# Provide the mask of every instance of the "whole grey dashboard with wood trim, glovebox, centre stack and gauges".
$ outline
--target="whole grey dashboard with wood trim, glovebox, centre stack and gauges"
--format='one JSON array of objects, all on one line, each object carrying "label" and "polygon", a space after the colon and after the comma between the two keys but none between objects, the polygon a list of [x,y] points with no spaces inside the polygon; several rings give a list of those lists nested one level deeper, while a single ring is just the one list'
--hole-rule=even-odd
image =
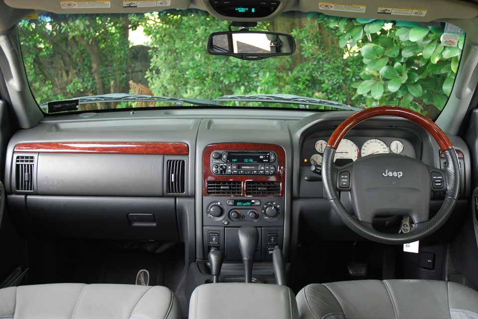
[{"label": "whole grey dashboard with wood trim, glovebox, centre stack and gauges", "polygon": [[[250,110],[184,109],[45,118],[8,144],[7,205],[26,237],[182,241],[187,263],[205,260],[212,247],[238,261],[237,231],[252,225],[261,238],[258,261],[270,260],[275,245],[292,258],[304,234],[359,239],[331,211],[311,171],[352,114],[254,110],[251,119]],[[466,199],[470,152],[461,138],[450,139],[460,150]],[[446,164],[424,129],[395,117],[360,123],[335,163],[381,153]]]}]

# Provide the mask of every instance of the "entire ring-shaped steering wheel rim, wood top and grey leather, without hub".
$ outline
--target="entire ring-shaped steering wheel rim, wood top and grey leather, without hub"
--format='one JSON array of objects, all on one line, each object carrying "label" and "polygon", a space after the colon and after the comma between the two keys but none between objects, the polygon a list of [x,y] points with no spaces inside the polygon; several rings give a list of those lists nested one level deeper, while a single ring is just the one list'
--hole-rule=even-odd
[{"label": "entire ring-shaped steering wheel rim, wood top and grey leather, without hub", "polygon": [[[336,149],[342,138],[360,122],[381,115],[393,115],[411,120],[426,129],[437,141],[445,154],[447,167],[447,195],[438,213],[426,222],[416,223],[409,233],[389,234],[377,231],[370,223],[359,221],[350,215],[340,201],[337,191],[337,169],[334,165]],[[440,228],[450,217],[455,208],[460,191],[460,165],[458,156],[446,134],[431,120],[414,111],[394,106],[380,106],[364,109],[346,119],[332,134],[325,148],[322,160],[322,180],[324,191],[332,210],[339,216],[346,226],[364,237],[382,244],[405,244],[431,235]]]}]

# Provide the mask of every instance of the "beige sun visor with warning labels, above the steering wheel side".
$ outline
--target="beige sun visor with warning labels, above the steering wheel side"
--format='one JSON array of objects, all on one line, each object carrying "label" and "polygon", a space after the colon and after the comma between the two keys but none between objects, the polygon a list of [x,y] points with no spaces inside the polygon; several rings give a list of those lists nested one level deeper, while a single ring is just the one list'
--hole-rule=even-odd
[{"label": "beige sun visor with warning labels, above the steering wheel side", "polygon": [[428,22],[438,19],[469,19],[478,6],[450,0],[299,0],[300,10],[352,18]]}]

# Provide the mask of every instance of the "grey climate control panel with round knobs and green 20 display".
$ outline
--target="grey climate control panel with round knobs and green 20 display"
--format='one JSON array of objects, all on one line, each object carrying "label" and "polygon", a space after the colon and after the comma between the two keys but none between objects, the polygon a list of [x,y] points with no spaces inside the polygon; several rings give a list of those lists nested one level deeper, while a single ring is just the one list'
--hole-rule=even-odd
[{"label": "grey climate control panel with round knobs and green 20 display", "polygon": [[270,197],[209,196],[207,200],[203,208],[205,226],[283,225],[284,199],[281,197],[271,200]]}]

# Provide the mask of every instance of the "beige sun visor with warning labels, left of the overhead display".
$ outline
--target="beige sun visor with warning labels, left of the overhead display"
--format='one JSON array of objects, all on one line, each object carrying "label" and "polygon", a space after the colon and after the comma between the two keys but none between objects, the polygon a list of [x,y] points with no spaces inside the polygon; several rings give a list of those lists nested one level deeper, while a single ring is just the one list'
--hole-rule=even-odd
[{"label": "beige sun visor with warning labels, left of the overhead display", "polygon": [[14,8],[55,13],[122,13],[187,9],[190,0],[4,0]]}]

